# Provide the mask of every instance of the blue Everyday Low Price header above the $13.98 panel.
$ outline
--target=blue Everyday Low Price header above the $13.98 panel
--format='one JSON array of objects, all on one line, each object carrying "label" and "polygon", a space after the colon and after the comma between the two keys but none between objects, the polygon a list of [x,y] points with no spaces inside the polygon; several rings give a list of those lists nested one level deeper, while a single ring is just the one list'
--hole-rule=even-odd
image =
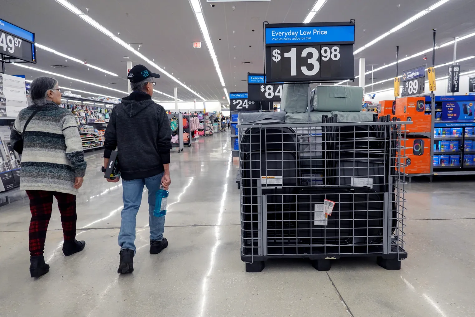
[{"label": "blue Everyday Low Price header above the $13.98 panel", "polygon": [[266,28],[266,44],[354,42],[354,25]]}]

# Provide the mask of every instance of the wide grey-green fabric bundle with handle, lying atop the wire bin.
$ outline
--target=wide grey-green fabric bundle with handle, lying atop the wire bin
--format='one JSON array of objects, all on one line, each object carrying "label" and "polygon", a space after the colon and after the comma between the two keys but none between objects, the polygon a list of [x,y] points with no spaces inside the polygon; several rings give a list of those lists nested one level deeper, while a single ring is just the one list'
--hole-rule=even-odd
[{"label": "wide grey-green fabric bundle with handle, lying atop the wire bin", "polygon": [[361,87],[322,85],[316,86],[312,94],[314,111],[361,111]]}]

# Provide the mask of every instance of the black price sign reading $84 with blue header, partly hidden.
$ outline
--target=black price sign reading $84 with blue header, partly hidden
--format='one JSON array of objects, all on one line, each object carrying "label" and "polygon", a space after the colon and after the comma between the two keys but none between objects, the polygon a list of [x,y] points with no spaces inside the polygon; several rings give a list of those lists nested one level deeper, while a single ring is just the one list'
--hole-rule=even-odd
[{"label": "black price sign reading $84 with blue header, partly hidden", "polygon": [[266,84],[264,74],[248,74],[247,92],[249,100],[280,101],[283,84]]}]

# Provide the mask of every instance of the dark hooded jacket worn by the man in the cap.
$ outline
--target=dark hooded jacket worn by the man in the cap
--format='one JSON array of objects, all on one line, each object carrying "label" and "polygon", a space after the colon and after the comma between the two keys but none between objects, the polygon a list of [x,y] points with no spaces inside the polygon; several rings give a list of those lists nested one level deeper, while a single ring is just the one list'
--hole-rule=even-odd
[{"label": "dark hooded jacket worn by the man in the cap", "polygon": [[152,177],[170,163],[171,128],[167,113],[152,97],[134,91],[112,109],[105,130],[104,157],[117,148],[124,180]]}]

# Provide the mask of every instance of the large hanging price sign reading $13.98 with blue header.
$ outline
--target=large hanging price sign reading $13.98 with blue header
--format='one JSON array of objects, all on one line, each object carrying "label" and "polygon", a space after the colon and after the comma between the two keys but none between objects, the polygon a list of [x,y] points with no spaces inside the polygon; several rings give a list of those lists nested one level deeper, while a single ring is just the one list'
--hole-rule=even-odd
[{"label": "large hanging price sign reading $13.98 with blue header", "polygon": [[354,23],[266,25],[267,83],[354,79]]}]

